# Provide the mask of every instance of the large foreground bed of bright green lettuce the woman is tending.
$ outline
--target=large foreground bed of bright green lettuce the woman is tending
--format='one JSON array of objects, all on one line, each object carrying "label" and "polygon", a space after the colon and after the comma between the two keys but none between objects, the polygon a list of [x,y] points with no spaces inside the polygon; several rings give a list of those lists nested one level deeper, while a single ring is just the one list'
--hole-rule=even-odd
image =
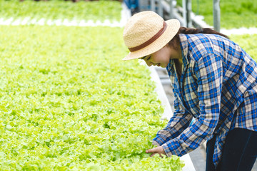
[{"label": "large foreground bed of bright green lettuce the woman is tending", "polygon": [[181,170],[148,157],[166,125],[122,28],[0,27],[1,170]]}]

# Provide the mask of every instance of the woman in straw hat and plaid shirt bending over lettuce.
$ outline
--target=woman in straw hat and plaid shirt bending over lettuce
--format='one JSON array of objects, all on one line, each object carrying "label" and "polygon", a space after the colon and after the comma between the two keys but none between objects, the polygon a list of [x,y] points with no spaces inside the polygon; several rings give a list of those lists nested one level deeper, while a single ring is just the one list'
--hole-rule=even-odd
[{"label": "woman in straw hat and plaid shirt bending over lettuce", "polygon": [[[257,64],[210,28],[183,28],[143,11],[124,27],[129,55],[166,68],[174,114],[158,131],[151,156],[182,156],[207,140],[206,170],[251,170],[257,155]],[[195,118],[191,123],[192,118]],[[190,124],[191,123],[191,124]]]}]

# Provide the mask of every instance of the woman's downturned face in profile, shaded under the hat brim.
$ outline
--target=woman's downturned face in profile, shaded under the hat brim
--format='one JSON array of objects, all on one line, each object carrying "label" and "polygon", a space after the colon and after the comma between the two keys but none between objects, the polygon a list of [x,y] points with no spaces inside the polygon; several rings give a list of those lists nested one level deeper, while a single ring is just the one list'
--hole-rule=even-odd
[{"label": "woman's downturned face in profile, shaded under the hat brim", "polygon": [[147,66],[160,66],[162,68],[166,68],[170,61],[170,58],[179,58],[178,56],[178,51],[169,46],[164,46],[155,53],[144,56],[140,59],[143,59],[143,61],[146,62]]}]

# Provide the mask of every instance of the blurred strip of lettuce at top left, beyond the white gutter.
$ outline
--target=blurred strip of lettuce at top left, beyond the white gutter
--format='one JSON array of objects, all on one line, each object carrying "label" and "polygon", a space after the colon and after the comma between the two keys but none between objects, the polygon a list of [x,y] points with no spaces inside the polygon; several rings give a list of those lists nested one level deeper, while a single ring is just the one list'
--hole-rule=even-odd
[{"label": "blurred strip of lettuce at top left, beyond the white gutter", "polygon": [[1,19],[68,19],[92,21],[120,21],[121,2],[119,1],[17,1],[0,0]]}]

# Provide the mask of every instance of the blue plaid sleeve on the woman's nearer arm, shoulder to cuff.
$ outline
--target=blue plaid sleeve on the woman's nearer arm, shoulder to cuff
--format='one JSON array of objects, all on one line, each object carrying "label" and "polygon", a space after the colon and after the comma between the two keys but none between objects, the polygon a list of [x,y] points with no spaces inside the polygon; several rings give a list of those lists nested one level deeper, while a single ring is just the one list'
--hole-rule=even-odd
[{"label": "blue plaid sleeve on the woman's nearer arm, shoulder to cuff", "polygon": [[202,56],[194,66],[194,74],[198,83],[199,115],[180,135],[163,143],[168,157],[182,156],[196,149],[212,135],[218,124],[223,80],[221,57]]}]

